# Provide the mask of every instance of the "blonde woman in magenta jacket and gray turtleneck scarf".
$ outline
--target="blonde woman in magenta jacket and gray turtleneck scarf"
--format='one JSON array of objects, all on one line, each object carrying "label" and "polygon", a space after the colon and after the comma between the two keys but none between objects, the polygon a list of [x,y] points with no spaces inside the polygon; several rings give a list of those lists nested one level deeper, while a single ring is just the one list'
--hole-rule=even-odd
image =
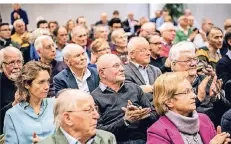
[{"label": "blonde woman in magenta jacket and gray turtleneck scarf", "polygon": [[196,112],[196,95],[186,73],[165,73],[158,77],[154,95],[154,105],[161,117],[148,129],[147,144],[223,144],[230,141],[228,133],[214,137],[216,131],[211,120]]}]

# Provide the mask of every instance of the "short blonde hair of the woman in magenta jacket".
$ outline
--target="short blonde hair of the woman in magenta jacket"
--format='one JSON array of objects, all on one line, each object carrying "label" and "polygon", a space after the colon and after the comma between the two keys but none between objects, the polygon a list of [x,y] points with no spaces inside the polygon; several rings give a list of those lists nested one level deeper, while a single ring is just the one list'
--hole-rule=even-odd
[{"label": "short blonde hair of the woman in magenta jacket", "polygon": [[178,86],[187,78],[186,72],[169,72],[160,75],[154,83],[154,106],[159,115],[164,115],[169,109],[166,102],[174,97]]}]

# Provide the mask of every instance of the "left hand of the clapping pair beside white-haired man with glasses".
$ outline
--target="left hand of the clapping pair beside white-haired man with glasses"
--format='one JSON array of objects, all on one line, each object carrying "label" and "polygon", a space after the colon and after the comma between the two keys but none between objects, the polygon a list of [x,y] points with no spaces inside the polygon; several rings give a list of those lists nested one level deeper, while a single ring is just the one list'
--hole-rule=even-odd
[{"label": "left hand of the clapping pair beside white-haired man with glasses", "polygon": [[211,79],[211,76],[206,76],[203,81],[200,83],[198,86],[198,92],[197,92],[197,97],[199,101],[203,101],[206,96],[206,87],[208,85],[209,80]]}]

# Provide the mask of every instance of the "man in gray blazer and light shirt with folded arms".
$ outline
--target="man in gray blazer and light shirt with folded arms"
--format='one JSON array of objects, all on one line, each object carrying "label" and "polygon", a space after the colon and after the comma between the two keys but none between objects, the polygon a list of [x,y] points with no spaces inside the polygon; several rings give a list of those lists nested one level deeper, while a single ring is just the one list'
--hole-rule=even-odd
[{"label": "man in gray blazer and light shirt with folded arms", "polygon": [[[133,37],[128,43],[129,63],[125,66],[126,82],[139,85],[145,93],[153,92],[153,84],[161,75],[159,68],[149,65],[150,46],[142,37]],[[152,101],[152,95],[149,100]]]}]

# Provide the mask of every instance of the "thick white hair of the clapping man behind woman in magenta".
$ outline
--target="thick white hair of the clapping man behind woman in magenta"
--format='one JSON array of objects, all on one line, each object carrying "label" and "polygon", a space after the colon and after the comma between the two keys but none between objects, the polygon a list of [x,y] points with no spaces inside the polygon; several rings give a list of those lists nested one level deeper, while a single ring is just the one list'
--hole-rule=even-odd
[{"label": "thick white hair of the clapping man behind woman in magenta", "polygon": [[182,41],[173,45],[169,52],[170,61],[178,60],[183,52],[194,52],[196,49],[192,42]]}]

